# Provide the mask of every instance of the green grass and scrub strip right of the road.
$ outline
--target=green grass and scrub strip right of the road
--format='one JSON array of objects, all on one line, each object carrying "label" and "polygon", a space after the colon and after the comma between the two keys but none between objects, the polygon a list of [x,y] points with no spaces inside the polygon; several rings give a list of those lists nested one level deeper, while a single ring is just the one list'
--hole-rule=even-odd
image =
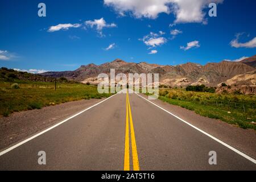
[{"label": "green grass and scrub strip right of the road", "polygon": [[161,89],[159,99],[193,110],[204,117],[220,119],[243,129],[254,129],[256,96],[188,92],[184,89]]}]

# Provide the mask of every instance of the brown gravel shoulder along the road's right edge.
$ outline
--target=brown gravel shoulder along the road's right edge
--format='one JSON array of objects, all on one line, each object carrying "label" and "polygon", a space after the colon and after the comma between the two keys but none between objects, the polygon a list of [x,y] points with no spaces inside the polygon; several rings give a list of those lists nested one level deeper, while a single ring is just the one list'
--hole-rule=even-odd
[{"label": "brown gravel shoulder along the road's right edge", "polygon": [[[140,95],[147,98],[144,94]],[[161,100],[151,100],[151,102],[256,159],[256,132],[253,129],[241,129],[217,119],[203,117],[194,111],[171,105]]]}]

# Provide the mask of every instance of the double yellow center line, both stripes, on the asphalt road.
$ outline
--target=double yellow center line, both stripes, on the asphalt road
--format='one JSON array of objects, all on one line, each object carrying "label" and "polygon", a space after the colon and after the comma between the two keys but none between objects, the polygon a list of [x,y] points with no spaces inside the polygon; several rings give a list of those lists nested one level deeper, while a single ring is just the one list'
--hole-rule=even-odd
[{"label": "double yellow center line, both stripes, on the asphalt road", "polygon": [[129,140],[129,118],[131,130],[131,152],[133,155],[133,170],[139,171],[139,159],[135,140],[135,133],[133,127],[133,117],[131,116],[131,107],[129,101],[128,90],[126,93],[126,130],[125,130],[125,163],[124,170],[130,171],[130,140]]}]

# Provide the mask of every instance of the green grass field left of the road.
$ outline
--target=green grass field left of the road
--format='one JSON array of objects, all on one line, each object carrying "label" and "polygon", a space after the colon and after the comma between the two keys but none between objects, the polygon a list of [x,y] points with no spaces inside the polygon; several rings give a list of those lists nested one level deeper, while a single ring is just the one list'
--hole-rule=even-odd
[{"label": "green grass field left of the road", "polygon": [[[14,88],[17,83],[19,88]],[[44,106],[57,105],[69,101],[100,99],[111,94],[99,94],[97,86],[79,83],[36,82],[15,80],[0,81],[0,115],[8,117],[15,111],[41,109]]]}]

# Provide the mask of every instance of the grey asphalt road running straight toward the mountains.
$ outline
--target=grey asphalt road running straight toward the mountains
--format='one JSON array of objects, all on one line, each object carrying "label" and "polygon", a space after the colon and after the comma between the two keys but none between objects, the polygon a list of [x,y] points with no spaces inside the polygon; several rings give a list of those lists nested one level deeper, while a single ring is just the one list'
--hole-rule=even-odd
[{"label": "grey asphalt road running straight toward the mountains", "polygon": [[[39,151],[46,165],[38,164]],[[209,164],[210,151],[217,165]],[[0,170],[256,170],[224,144],[125,93],[0,155]]]}]

